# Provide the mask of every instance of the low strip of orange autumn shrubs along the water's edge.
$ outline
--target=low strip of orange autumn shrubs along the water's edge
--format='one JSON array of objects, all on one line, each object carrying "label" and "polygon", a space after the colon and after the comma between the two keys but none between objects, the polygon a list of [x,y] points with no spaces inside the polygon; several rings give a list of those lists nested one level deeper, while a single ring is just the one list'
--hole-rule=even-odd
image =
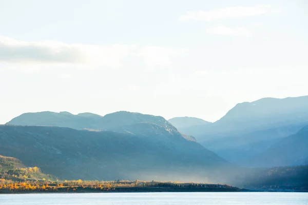
[{"label": "low strip of orange autumn shrubs along the water's edge", "polygon": [[93,193],[93,192],[239,192],[229,185],[171,181],[44,181],[13,182],[0,179],[0,193]]}]

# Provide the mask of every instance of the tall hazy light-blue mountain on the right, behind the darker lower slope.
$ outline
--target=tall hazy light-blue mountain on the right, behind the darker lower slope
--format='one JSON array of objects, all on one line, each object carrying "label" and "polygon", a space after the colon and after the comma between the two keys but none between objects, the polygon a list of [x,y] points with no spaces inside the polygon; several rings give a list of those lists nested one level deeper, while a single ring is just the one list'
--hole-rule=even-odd
[{"label": "tall hazy light-blue mountain on the right, behind the darker lower slope", "polygon": [[223,158],[242,163],[306,125],[308,96],[302,96],[237,104],[213,124],[181,131]]}]

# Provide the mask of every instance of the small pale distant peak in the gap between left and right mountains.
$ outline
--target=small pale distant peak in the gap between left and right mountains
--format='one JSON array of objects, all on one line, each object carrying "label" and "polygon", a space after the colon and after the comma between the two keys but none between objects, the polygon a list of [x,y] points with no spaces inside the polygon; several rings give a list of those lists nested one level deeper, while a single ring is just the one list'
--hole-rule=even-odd
[{"label": "small pale distant peak in the gap between left and right mountains", "polygon": [[211,124],[211,122],[196,117],[174,117],[168,121],[181,132],[187,128]]}]

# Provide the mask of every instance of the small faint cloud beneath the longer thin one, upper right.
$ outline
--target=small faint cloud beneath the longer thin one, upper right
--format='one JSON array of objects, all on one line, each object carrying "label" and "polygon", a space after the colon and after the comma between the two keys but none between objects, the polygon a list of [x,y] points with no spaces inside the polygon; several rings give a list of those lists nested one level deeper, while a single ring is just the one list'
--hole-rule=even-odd
[{"label": "small faint cloud beneath the longer thin one, upper right", "polygon": [[251,35],[251,31],[245,27],[230,28],[223,25],[206,29],[206,32],[217,35],[232,35],[232,36]]}]

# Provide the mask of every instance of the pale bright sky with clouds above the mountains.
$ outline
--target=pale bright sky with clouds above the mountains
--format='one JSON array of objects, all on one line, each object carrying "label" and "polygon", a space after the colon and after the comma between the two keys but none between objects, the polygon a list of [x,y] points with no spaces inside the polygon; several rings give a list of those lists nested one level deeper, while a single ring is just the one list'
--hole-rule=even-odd
[{"label": "pale bright sky with clouds above the mountains", "polygon": [[0,0],[0,124],[26,112],[216,121],[308,95],[305,0]]}]

